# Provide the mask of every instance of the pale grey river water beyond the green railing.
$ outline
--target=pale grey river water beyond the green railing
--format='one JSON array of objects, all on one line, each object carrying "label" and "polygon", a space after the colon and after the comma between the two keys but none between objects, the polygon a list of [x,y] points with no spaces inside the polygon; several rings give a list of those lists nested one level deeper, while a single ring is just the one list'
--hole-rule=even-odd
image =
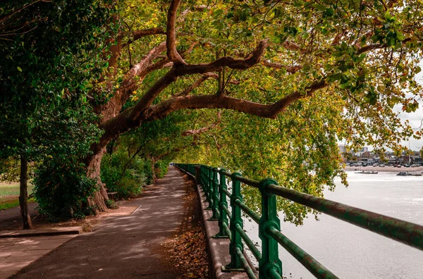
[{"label": "pale grey river water beyond the green railing", "polygon": [[[423,225],[423,177],[348,172],[348,188],[336,182],[326,199]],[[247,234],[260,243],[257,227],[245,220]],[[299,227],[281,223],[281,232],[339,278],[423,278],[423,251],[331,216],[310,216]],[[279,254],[284,276],[314,278],[281,246]]]}]

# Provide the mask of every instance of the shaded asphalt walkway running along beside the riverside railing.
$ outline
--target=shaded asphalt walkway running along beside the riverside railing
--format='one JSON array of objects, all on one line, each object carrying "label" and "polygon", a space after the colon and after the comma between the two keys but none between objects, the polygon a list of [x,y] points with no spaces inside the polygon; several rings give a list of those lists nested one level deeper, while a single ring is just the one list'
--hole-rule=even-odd
[{"label": "shaded asphalt walkway running along beside the riverside railing", "polygon": [[183,221],[184,181],[170,168],[131,202],[140,206],[132,215],[103,219],[11,278],[178,278],[161,244]]}]

